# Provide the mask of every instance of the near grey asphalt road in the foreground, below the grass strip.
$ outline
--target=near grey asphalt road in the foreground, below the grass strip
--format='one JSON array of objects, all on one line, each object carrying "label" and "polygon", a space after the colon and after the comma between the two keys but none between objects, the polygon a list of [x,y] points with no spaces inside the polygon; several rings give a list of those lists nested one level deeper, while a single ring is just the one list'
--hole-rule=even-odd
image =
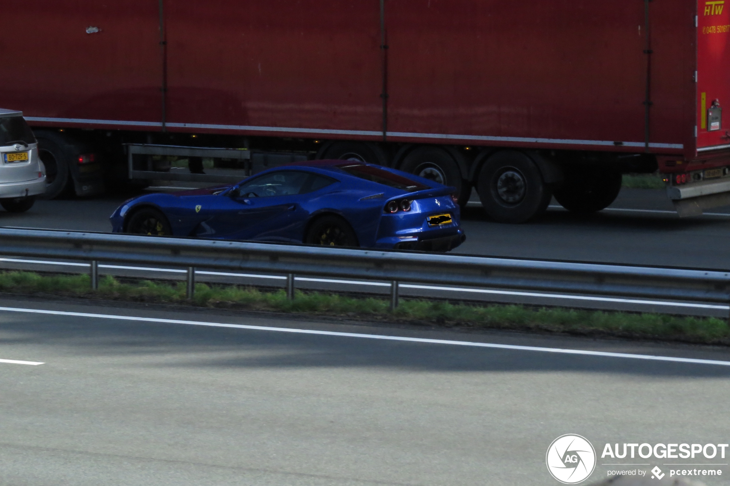
[{"label": "near grey asphalt road in the foreground, below the grass strip", "polygon": [[[599,454],[590,483],[617,467],[603,463],[677,462],[602,460],[605,443],[730,439],[730,366],[520,346],[729,360],[721,349],[150,306],[0,306],[0,360],[44,363],[0,362],[1,485],[557,485],[545,452],[566,433]],[[705,484],[727,484],[728,466],[704,467],[724,473]]]}]

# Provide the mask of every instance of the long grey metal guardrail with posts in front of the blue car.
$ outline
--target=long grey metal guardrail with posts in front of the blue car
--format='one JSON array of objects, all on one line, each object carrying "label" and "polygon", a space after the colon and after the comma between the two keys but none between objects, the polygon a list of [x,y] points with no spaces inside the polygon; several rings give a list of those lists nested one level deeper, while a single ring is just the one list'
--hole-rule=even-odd
[{"label": "long grey metal guardrail with posts in front of the blue car", "polygon": [[390,281],[393,307],[398,282],[730,301],[729,271],[12,228],[0,228],[0,254],[91,261],[93,288],[99,261],[187,267],[188,297],[199,267],[286,274],[289,298],[294,274]]}]

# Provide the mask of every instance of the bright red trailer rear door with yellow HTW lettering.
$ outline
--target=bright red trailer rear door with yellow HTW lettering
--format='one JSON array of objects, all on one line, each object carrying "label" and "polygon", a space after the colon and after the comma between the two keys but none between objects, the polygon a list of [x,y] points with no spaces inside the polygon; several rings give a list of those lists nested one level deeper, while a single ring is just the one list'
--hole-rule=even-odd
[{"label": "bright red trailer rear door with yellow HTW lettering", "polygon": [[697,151],[700,153],[730,147],[728,3],[730,0],[697,3]]}]

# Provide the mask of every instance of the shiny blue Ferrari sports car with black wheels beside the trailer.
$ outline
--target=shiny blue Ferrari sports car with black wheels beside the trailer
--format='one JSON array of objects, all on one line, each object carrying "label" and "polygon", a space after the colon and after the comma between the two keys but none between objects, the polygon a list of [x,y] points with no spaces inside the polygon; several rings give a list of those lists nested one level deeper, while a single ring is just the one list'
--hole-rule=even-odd
[{"label": "shiny blue Ferrari sports car with black wheels beside the trailer", "polygon": [[368,163],[311,161],[139,196],[110,219],[116,233],[448,251],[466,239],[454,190]]}]

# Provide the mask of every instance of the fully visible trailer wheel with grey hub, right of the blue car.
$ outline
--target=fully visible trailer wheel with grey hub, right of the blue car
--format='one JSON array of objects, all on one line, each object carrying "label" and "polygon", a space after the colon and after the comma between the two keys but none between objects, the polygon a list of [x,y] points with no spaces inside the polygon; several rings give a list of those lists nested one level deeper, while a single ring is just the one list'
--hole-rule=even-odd
[{"label": "fully visible trailer wheel with grey hub, right of the blue car", "polygon": [[516,150],[497,152],[485,161],[477,192],[487,214],[499,223],[524,223],[541,215],[552,197],[537,165]]}]

